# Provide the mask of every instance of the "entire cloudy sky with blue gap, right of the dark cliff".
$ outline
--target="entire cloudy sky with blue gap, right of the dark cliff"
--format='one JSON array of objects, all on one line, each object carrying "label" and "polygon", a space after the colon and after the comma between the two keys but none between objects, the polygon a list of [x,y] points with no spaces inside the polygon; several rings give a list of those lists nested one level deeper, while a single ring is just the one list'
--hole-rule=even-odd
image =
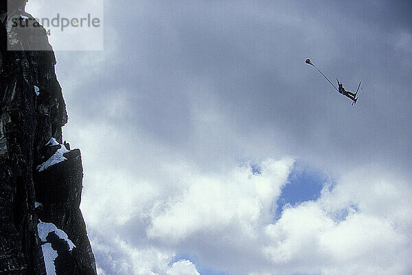
[{"label": "entire cloudy sky with blue gap, right of the dark cliff", "polygon": [[411,10],[105,1],[56,52],[98,273],[411,274]]}]

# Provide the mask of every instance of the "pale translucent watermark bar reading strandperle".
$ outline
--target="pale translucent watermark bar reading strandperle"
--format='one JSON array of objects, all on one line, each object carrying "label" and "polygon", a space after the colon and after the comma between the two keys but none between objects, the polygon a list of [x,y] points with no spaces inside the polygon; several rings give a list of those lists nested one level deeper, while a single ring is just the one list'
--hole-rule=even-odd
[{"label": "pale translucent watermark bar reading strandperle", "polygon": [[30,0],[19,9],[9,6],[8,50],[104,50],[103,5],[103,0]]}]

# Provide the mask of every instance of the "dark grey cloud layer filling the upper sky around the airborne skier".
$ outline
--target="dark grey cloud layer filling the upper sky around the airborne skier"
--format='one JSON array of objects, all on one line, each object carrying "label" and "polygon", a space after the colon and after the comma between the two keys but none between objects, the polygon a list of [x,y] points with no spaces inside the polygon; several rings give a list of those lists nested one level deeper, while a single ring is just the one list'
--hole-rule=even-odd
[{"label": "dark grey cloud layer filling the upper sky around the airborne skier", "polygon": [[[144,1],[136,21],[122,5],[106,15],[104,53],[76,54],[75,68],[58,54],[71,123],[133,129],[204,166],[293,155],[331,170],[355,159],[409,170],[411,67],[399,49],[411,29],[387,12],[400,4]],[[349,90],[362,80],[355,108],[306,57]]]}]

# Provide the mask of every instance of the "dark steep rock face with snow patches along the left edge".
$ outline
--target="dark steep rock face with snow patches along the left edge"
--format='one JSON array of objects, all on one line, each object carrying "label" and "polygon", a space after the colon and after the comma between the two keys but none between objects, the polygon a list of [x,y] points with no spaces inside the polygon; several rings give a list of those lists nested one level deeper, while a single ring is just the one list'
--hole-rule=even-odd
[{"label": "dark steep rock face with snow patches along the left edge", "polygon": [[[0,0],[0,274],[46,274],[45,243],[58,253],[56,274],[96,274],[79,209],[80,151],[62,144],[67,113],[56,59],[52,51],[32,51],[45,45],[52,50],[47,36],[27,40],[19,31],[6,30],[12,17],[32,18],[23,10],[26,1],[12,1],[15,10],[6,11],[6,1]],[[47,144],[52,137],[55,142]],[[54,223],[76,247],[69,251],[52,233],[41,241],[39,220]]]}]

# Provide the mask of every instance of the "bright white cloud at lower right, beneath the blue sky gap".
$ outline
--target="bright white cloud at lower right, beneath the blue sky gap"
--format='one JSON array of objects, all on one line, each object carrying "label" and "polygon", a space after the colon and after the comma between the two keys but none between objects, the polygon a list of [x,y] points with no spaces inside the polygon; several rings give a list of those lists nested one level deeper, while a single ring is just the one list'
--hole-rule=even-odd
[{"label": "bright white cloud at lower right, beneath the blue sky gap", "polygon": [[[321,274],[406,274],[411,269],[411,194],[402,181],[356,170],[317,201],[286,208],[266,226],[264,248],[275,266]],[[354,181],[356,179],[356,181]],[[364,191],[364,192],[363,192]],[[385,194],[385,195],[384,195]],[[336,220],[336,211],[347,216]],[[402,214],[400,214],[402,213]],[[282,265],[284,265],[282,267]]]}]

